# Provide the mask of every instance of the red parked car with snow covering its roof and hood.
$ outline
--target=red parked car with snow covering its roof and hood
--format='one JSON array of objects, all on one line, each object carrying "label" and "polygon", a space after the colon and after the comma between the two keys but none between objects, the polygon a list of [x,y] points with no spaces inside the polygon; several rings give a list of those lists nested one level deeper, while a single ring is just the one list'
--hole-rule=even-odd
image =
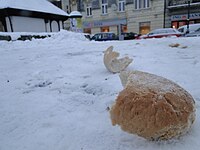
[{"label": "red parked car with snow covering its roof and hood", "polygon": [[183,33],[179,32],[174,28],[163,28],[156,29],[149,32],[146,35],[139,36],[138,39],[148,39],[148,38],[162,38],[162,37],[180,37]]}]

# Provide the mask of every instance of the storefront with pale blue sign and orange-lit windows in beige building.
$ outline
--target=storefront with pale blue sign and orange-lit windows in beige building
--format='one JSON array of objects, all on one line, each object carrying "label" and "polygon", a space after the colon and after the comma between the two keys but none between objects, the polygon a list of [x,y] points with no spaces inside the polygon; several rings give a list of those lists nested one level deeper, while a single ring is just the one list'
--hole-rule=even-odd
[{"label": "storefront with pale blue sign and orange-lit windows in beige building", "polygon": [[84,21],[83,31],[85,33],[90,33],[90,34],[94,34],[92,32],[98,32],[98,31],[99,32],[114,32],[118,34],[119,26],[121,27],[121,32],[126,32],[127,31],[126,19]]}]

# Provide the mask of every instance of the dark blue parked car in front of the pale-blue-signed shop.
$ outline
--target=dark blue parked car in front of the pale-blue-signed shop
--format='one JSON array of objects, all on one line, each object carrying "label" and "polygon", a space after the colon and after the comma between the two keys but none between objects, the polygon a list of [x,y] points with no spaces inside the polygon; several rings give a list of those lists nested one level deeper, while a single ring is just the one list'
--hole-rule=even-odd
[{"label": "dark blue parked car in front of the pale-blue-signed shop", "polygon": [[101,33],[96,33],[94,36],[92,36],[91,40],[95,41],[118,40],[118,37],[113,32],[101,32]]}]

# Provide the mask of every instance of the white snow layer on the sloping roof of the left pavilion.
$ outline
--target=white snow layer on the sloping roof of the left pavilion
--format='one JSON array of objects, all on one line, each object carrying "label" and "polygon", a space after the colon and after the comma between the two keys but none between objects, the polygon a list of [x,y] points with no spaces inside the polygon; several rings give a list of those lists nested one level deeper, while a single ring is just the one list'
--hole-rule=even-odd
[{"label": "white snow layer on the sloping roof of the left pavilion", "polygon": [[47,0],[0,0],[0,9],[4,8],[15,8],[69,16],[69,14]]}]

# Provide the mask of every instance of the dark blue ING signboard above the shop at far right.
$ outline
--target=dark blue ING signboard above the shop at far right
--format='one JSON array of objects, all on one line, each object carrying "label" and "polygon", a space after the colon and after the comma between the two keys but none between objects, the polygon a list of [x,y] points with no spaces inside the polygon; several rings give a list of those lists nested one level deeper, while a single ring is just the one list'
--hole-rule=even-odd
[{"label": "dark blue ING signboard above the shop at far right", "polygon": [[[171,21],[187,20],[188,14],[183,15],[173,15],[171,16]],[[200,19],[200,13],[191,13],[190,19]]]}]

